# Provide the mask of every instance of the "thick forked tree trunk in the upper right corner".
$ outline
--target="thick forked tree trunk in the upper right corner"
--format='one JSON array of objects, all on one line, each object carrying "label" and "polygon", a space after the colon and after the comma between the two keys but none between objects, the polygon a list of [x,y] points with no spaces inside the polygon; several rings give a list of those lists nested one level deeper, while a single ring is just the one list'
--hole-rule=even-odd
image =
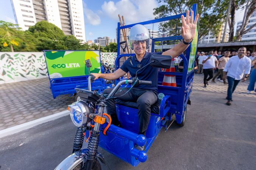
[{"label": "thick forked tree trunk in the upper right corner", "polygon": [[[253,11],[256,9],[256,0],[247,0],[245,5],[245,12],[244,12],[244,18],[242,21],[241,27],[237,30],[237,38],[236,41],[241,41],[242,35],[248,33],[253,27],[256,26],[255,24],[252,24],[248,29],[246,29],[250,16],[252,15]],[[246,30],[245,30],[246,29]]]}]

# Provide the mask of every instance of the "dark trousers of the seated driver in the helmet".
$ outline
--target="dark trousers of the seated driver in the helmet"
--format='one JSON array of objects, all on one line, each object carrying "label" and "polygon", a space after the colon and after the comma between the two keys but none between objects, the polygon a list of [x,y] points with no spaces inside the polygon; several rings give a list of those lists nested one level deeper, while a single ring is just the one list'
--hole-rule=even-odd
[{"label": "dark trousers of the seated driver in the helmet", "polygon": [[[113,88],[107,88],[103,91],[103,94],[109,94]],[[124,88],[121,92],[115,94],[115,97],[121,96],[127,92],[129,88]],[[139,133],[145,134],[147,131],[150,116],[151,116],[151,105],[154,105],[157,101],[157,93],[151,90],[143,90],[138,88],[132,88],[125,95],[118,97],[122,101],[137,102],[138,105],[138,117],[139,117]],[[109,99],[107,102],[108,114],[116,115],[115,100]]]}]

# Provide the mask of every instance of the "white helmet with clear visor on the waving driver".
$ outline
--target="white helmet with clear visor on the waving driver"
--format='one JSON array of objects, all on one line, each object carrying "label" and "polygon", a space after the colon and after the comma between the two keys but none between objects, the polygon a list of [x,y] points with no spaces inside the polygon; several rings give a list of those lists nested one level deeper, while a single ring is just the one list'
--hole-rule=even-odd
[{"label": "white helmet with clear visor on the waving driver", "polygon": [[136,41],[146,41],[147,48],[149,48],[149,39],[150,35],[148,29],[145,26],[141,24],[136,24],[131,27],[128,35],[129,45],[131,49],[133,49],[133,43]]}]

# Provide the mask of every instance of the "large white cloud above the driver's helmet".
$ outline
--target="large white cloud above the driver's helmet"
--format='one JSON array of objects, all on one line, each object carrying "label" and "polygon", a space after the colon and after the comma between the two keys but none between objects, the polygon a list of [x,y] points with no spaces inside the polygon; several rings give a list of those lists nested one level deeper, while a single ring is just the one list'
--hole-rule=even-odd
[{"label": "large white cloud above the driver's helmet", "polygon": [[119,21],[118,14],[124,16],[126,23],[136,23],[154,19],[153,9],[157,7],[155,0],[120,0],[104,1],[102,11],[110,18]]}]

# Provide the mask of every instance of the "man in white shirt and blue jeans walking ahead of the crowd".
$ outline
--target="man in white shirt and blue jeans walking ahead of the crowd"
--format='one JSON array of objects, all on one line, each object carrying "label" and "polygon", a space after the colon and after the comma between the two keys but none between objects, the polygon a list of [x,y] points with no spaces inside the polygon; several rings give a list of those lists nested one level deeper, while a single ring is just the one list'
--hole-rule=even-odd
[{"label": "man in white shirt and blue jeans walking ahead of the crowd", "polygon": [[223,70],[223,80],[228,79],[228,92],[227,92],[227,105],[231,105],[232,93],[235,91],[237,84],[243,78],[244,73],[245,77],[242,82],[248,78],[250,73],[251,61],[250,58],[245,56],[246,48],[241,47],[238,50],[238,55],[230,58],[225,65]]}]

